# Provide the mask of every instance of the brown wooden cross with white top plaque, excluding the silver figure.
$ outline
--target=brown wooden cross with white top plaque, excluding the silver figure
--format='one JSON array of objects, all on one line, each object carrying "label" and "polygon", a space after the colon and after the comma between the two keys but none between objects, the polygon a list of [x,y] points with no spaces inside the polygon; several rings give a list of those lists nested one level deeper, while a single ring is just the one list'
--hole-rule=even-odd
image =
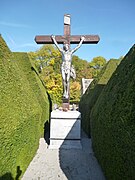
[{"label": "brown wooden cross with white top plaque, excluding the silver figure", "polygon": [[[56,35],[55,39],[58,44],[78,44],[81,36],[85,37],[83,44],[97,44],[100,40],[98,35],[71,35],[70,32],[70,15],[64,15],[64,35]],[[50,35],[40,35],[35,37],[37,44],[54,44]],[[63,99],[63,107],[69,108],[69,99]]]}]

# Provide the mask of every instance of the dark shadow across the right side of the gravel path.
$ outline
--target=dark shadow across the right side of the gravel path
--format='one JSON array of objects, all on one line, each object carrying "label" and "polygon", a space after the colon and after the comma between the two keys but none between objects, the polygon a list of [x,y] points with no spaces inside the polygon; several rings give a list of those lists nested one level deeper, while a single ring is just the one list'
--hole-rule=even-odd
[{"label": "dark shadow across the right side of the gravel path", "polygon": [[[70,132],[69,132],[70,133]],[[91,140],[82,131],[82,149],[59,149],[59,164],[68,180],[105,180],[92,151]]]}]

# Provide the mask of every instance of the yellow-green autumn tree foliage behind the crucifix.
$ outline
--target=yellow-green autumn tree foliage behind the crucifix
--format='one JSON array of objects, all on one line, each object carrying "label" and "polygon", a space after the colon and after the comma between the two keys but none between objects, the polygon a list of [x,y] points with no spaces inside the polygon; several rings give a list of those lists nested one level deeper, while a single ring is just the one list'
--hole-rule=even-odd
[{"label": "yellow-green autumn tree foliage behind the crucifix", "polygon": [[[51,96],[53,103],[62,103],[62,77],[60,66],[62,63],[61,53],[53,45],[44,45],[36,52],[30,52],[29,57],[33,60],[36,69],[40,72],[46,89]],[[103,57],[93,58],[91,63],[72,57],[72,64],[76,70],[76,80],[70,80],[70,101],[79,102],[81,96],[81,79],[90,79],[97,76],[97,72],[106,63]],[[96,67],[96,69],[95,69]]]}]

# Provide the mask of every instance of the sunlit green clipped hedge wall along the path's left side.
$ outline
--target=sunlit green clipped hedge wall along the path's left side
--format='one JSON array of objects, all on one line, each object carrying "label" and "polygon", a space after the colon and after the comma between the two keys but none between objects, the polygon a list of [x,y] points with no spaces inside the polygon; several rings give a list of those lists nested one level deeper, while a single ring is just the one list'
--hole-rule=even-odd
[{"label": "sunlit green clipped hedge wall along the path's left side", "polygon": [[27,53],[12,53],[0,36],[0,179],[22,176],[49,119],[45,88]]}]

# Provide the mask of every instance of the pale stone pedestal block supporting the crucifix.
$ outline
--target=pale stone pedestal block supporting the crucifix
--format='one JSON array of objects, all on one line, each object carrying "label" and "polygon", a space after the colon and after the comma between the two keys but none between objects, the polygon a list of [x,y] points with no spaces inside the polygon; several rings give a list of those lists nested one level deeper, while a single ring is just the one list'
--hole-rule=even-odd
[{"label": "pale stone pedestal block supporting the crucifix", "polygon": [[52,111],[50,149],[81,149],[81,114],[78,111]]}]

